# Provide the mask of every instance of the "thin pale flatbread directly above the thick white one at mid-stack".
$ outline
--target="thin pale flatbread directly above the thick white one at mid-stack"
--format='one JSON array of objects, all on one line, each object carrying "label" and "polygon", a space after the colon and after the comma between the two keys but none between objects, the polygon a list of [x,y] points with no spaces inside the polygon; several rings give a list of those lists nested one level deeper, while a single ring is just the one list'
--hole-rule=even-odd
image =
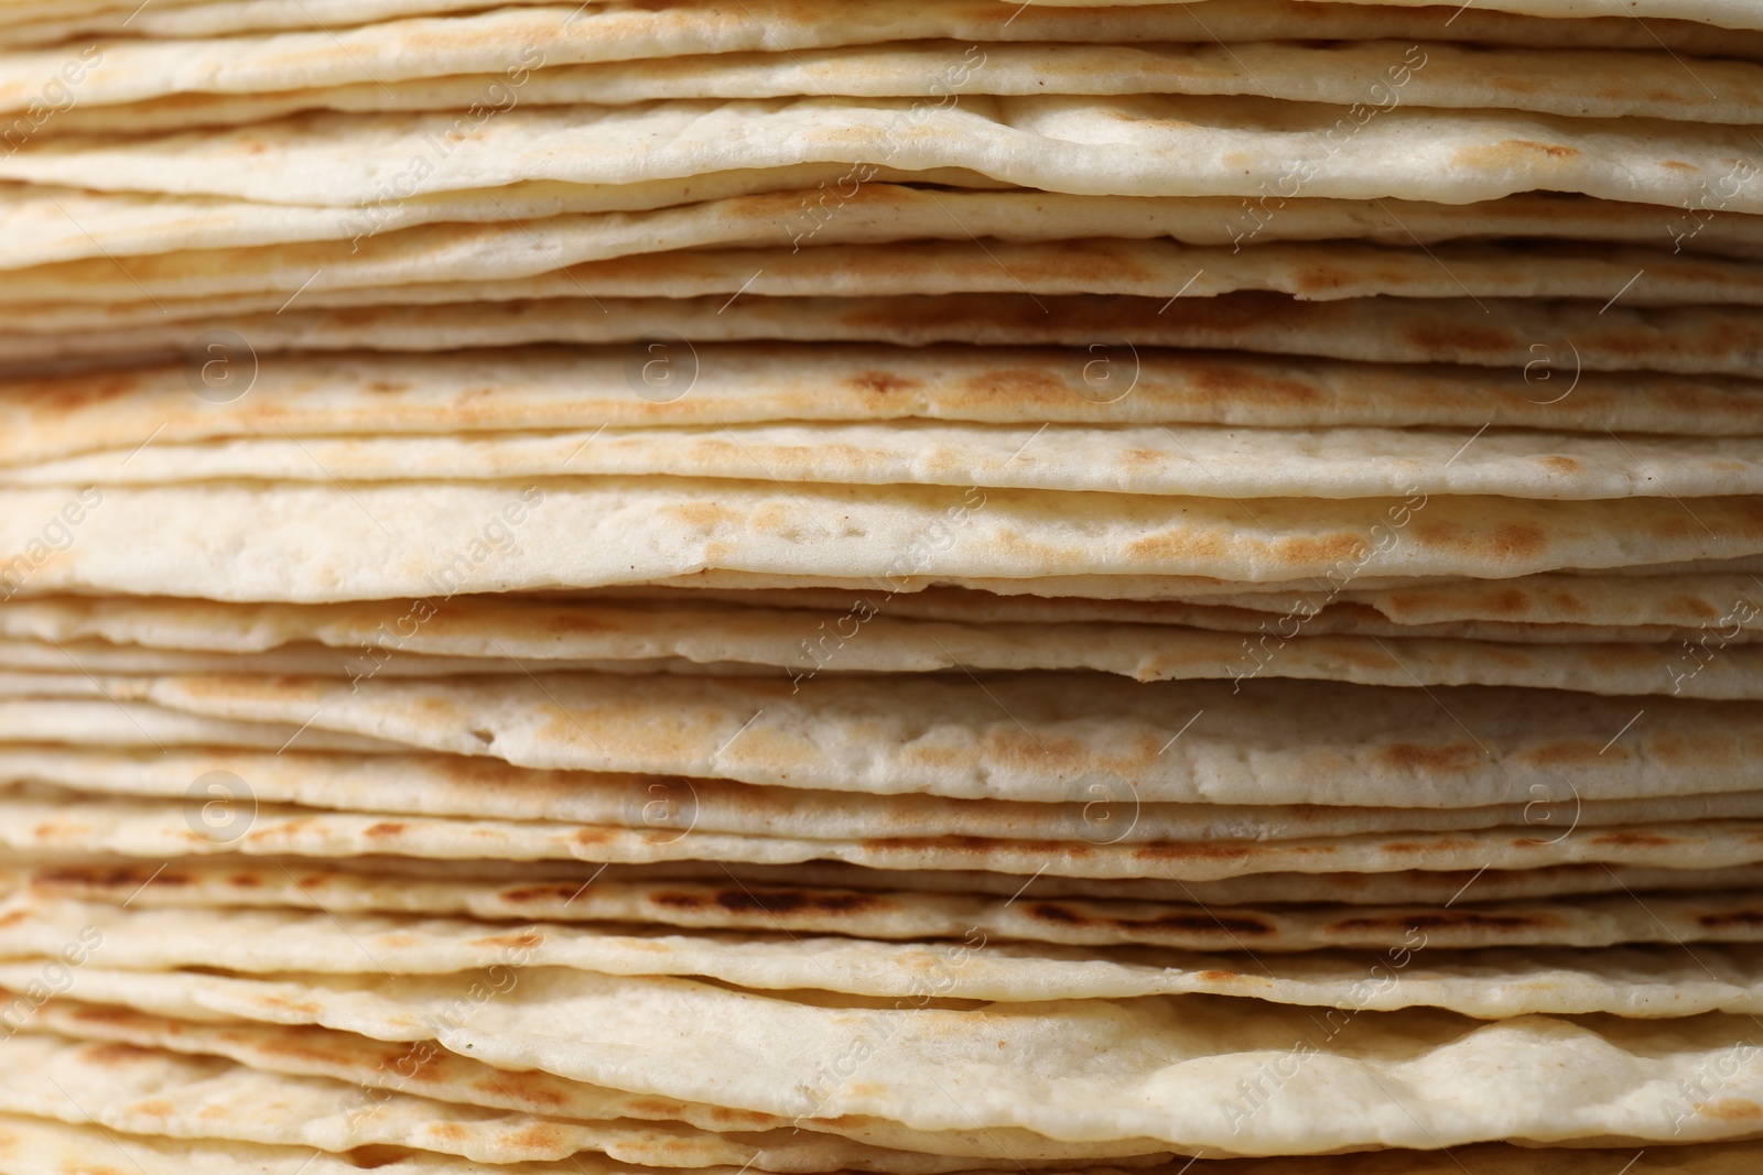
[{"label": "thin pale flatbread directly above the thick white one at mid-stack", "polygon": [[[139,446],[136,446],[139,447]],[[1763,493],[1763,439],[1537,430],[950,425],[580,428],[455,437],[272,435],[0,467],[0,484],[499,481],[557,476],[945,484],[1213,499],[1537,500]]]}]

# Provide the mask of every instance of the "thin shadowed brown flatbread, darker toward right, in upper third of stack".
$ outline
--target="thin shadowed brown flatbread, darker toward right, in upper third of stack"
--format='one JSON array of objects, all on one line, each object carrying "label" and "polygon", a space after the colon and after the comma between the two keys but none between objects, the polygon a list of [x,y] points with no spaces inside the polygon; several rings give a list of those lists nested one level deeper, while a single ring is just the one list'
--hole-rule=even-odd
[{"label": "thin shadowed brown flatbread, darker toward right, in upper third of stack", "polygon": [[[1171,291],[1176,294],[1179,291]],[[164,315],[162,315],[164,317]],[[513,303],[361,307],[210,317],[102,333],[0,335],[0,361],[279,351],[457,351],[513,344],[626,344],[642,372],[654,342],[693,347],[740,340],[1063,345],[1109,359],[1121,379],[1139,347],[1201,347],[1372,363],[1462,363],[1513,368],[1507,388],[1530,403],[1571,398],[1573,373],[1671,372],[1754,377],[1759,322],[1749,307],[1624,308],[1587,301],[1350,298],[1296,301],[1280,294],[1218,298],[989,296],[924,298],[552,298]],[[638,344],[629,347],[629,344]],[[651,352],[652,354],[652,352]],[[668,356],[688,354],[681,349]],[[1088,361],[1088,359],[1086,359]],[[1072,363],[1070,359],[1067,361]],[[1067,368],[1070,370],[1070,366]],[[1077,370],[1084,370],[1077,365]],[[1125,386],[1091,370],[1090,396]],[[189,379],[199,379],[201,365]],[[1525,375],[1530,379],[1525,381]],[[640,375],[633,375],[642,382]],[[1081,379],[1081,377],[1079,377]],[[626,384],[628,386],[628,384]],[[1070,388],[1070,382],[1067,382]],[[222,391],[222,389],[213,389]],[[656,395],[672,395],[666,386]],[[1079,396],[1084,393],[1079,391]],[[1483,421],[1486,423],[1486,416]]]}]

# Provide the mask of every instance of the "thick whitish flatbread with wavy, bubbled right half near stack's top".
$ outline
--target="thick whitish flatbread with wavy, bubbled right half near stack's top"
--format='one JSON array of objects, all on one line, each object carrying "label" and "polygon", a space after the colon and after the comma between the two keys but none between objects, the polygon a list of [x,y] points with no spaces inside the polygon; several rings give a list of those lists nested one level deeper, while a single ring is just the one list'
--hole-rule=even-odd
[{"label": "thick whitish flatbread with wavy, bubbled right half near stack's top", "polygon": [[[471,21],[448,23],[472,35]],[[751,16],[740,23],[744,37],[765,35]],[[335,55],[328,37],[317,39]],[[360,62],[340,58],[344,67]],[[1659,123],[1643,134],[1627,120],[1400,104],[1365,111],[1255,97],[971,95],[943,107],[823,97],[517,106],[464,129],[453,115],[319,113],[141,141],[55,137],[0,157],[0,178],[368,208],[430,192],[494,196],[531,180],[635,183],[836,162],[964,167],[1097,196],[1253,199],[1268,194],[1257,185],[1271,174],[1273,194],[1287,199],[1469,204],[1548,188],[1678,208],[1721,185],[1731,192],[1722,208],[1763,211],[1763,174],[1742,171],[1756,150],[1744,127]],[[435,143],[448,150],[437,155]]]}]

